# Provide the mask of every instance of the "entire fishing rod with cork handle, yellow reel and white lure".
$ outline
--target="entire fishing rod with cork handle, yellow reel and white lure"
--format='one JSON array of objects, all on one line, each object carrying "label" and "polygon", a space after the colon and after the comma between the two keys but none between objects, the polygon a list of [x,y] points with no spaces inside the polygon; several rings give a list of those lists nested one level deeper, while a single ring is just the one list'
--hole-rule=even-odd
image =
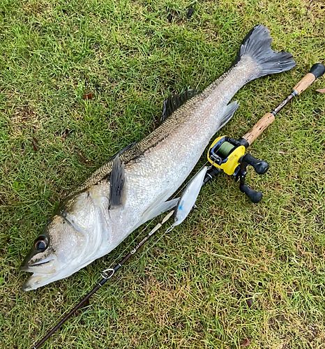
[{"label": "entire fishing rod with cork handle, yellow reel and white lure", "polygon": [[204,166],[190,180],[185,191],[183,191],[181,198],[179,199],[176,209],[170,211],[169,214],[167,214],[167,216],[165,216],[165,218],[163,218],[162,221],[158,223],[149,232],[149,234],[146,235],[141,242],[139,242],[139,244],[137,244],[135,248],[133,248],[120,262],[118,262],[112,268],[103,270],[103,272],[100,274],[102,279],[100,279],[98,284],[83,299],[81,299],[80,302],[43,337],[43,339],[38,341],[38,343],[33,346],[33,349],[40,348],[40,346],[42,346],[45,341],[47,341],[47,339],[49,339],[50,336],[52,336],[52,334],[54,334],[54,332],[56,332],[56,330],[68,320],[68,318],[70,318],[78,309],[80,309],[82,305],[99,288],[101,288],[135,253],[137,253],[137,251],[139,251],[142,246],[144,246],[144,244],[146,244],[146,242],[151,239],[151,237],[153,237],[153,235],[155,235],[155,233],[169,220],[169,218],[174,215],[174,223],[172,223],[172,225],[165,230],[163,235],[170,232],[174,226],[181,224],[186,216],[188,216],[193,205],[195,205],[200,188],[213,179],[213,177],[220,174],[221,170],[223,170],[226,174],[234,175],[236,179],[240,179],[239,188],[241,191],[243,191],[243,193],[248,195],[252,202],[259,202],[262,200],[262,193],[259,191],[254,191],[244,184],[246,168],[247,165],[252,165],[257,174],[264,174],[269,169],[269,164],[266,163],[266,161],[258,160],[250,154],[245,154],[245,150],[275,120],[275,115],[282,109],[282,107],[289,103],[292,98],[305,91],[305,89],[307,89],[310,84],[317,79],[317,77],[321,77],[324,74],[324,71],[325,68],[322,64],[314,64],[314,66],[312,66],[310,69],[310,73],[305,75],[305,77],[303,77],[303,79],[296,84],[292,94],[282,101],[282,103],[280,103],[275,110],[265,114],[264,117],[262,117],[262,119],[260,119],[248,133],[243,135],[242,138],[239,138],[239,140],[235,140],[234,138],[229,138],[227,136],[217,138],[211,144],[208,151],[208,160],[211,163],[211,166],[209,168]]}]

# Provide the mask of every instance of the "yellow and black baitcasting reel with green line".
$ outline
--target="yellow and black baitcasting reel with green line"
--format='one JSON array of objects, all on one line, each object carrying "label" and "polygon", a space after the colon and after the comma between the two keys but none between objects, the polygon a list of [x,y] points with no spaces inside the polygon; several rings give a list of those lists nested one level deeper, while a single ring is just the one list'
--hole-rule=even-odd
[{"label": "yellow and black baitcasting reel with green line", "polygon": [[244,138],[239,138],[239,140],[227,136],[217,138],[208,151],[208,160],[212,166],[206,172],[204,183],[223,170],[226,174],[233,175],[236,181],[239,180],[241,192],[245,193],[252,202],[257,203],[262,200],[263,195],[260,191],[254,191],[245,184],[247,166],[251,165],[257,174],[264,174],[269,170],[269,164],[250,154],[245,154],[248,146]]}]

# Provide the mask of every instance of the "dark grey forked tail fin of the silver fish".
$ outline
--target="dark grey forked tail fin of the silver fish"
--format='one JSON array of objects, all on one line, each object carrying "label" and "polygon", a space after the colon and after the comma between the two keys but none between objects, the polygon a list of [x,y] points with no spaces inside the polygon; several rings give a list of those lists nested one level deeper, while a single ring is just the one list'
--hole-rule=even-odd
[{"label": "dark grey forked tail fin of the silver fish", "polygon": [[255,59],[259,66],[259,73],[253,79],[294,68],[296,62],[292,58],[292,54],[273,51],[271,42],[272,38],[269,29],[262,24],[258,24],[243,39],[233,66],[245,55]]}]

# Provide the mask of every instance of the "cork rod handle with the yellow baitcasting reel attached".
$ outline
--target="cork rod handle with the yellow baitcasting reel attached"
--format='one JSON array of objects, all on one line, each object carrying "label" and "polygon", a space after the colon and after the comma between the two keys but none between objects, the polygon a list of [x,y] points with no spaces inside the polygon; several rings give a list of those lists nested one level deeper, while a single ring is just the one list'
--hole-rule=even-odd
[{"label": "cork rod handle with the yellow baitcasting reel attached", "polygon": [[275,116],[296,96],[299,96],[305,89],[315,82],[318,77],[324,75],[325,67],[323,64],[317,63],[310,68],[310,73],[305,75],[296,86],[292,89],[292,93],[285,98],[274,110],[264,114],[252,129],[238,140],[221,136],[217,138],[209,148],[208,160],[211,168],[206,172],[204,183],[220,174],[221,170],[226,174],[233,175],[235,180],[239,180],[239,189],[245,193],[254,203],[262,200],[262,193],[254,191],[245,184],[245,176],[247,174],[247,166],[251,165],[257,174],[265,174],[269,170],[269,164],[264,160],[258,160],[250,154],[245,154],[246,149],[250,147],[252,142],[256,140],[263,131],[272,124]]}]

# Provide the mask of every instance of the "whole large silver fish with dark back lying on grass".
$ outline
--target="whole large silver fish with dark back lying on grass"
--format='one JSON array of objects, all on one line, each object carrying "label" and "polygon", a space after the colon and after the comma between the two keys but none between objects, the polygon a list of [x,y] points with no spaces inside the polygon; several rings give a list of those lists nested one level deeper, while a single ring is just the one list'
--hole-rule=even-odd
[{"label": "whole large silver fish with dark back lying on grass", "polygon": [[186,180],[215,133],[239,107],[229,103],[246,83],[296,65],[271,49],[269,29],[245,36],[229,70],[201,93],[188,90],[163,104],[161,124],[119,151],[61,202],[20,269],[33,273],[22,290],[66,278],[121,244],[151,218],[174,208],[168,200]]}]

